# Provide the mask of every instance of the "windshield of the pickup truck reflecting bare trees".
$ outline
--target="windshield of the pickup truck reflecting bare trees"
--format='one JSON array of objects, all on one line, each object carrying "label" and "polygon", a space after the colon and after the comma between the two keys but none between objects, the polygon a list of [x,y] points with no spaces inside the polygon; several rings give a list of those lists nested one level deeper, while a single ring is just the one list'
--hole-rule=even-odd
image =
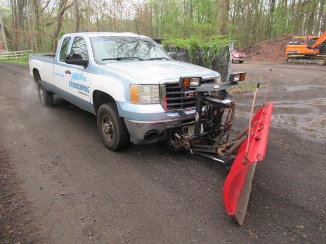
[{"label": "windshield of the pickup truck reflecting bare trees", "polygon": [[93,55],[97,64],[142,60],[171,60],[151,39],[141,37],[92,37]]}]

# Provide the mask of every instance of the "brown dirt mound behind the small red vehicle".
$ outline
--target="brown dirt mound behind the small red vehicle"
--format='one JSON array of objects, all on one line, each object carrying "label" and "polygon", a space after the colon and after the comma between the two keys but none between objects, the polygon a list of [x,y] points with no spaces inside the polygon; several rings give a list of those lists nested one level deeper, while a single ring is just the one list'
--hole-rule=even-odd
[{"label": "brown dirt mound behind the small red vehicle", "polygon": [[256,43],[250,47],[240,48],[246,57],[255,61],[279,62],[285,60],[286,45],[292,40],[292,36],[279,39],[269,39]]}]

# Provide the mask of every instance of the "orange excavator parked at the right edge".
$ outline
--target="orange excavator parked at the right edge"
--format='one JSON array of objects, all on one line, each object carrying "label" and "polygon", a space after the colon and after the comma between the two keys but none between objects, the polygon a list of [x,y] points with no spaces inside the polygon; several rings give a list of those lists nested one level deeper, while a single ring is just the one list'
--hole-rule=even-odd
[{"label": "orange excavator parked at the right edge", "polygon": [[293,37],[285,54],[288,63],[326,65],[326,31],[320,37]]}]

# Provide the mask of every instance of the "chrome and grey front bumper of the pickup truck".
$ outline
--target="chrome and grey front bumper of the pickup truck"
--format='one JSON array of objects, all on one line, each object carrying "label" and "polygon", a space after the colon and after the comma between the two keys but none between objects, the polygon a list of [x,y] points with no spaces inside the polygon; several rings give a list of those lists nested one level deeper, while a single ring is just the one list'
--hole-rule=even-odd
[{"label": "chrome and grey front bumper of the pickup truck", "polygon": [[124,118],[130,133],[130,141],[136,145],[150,144],[168,138],[168,131],[176,131],[182,127],[195,124],[195,113],[187,117],[165,120],[140,121]]}]

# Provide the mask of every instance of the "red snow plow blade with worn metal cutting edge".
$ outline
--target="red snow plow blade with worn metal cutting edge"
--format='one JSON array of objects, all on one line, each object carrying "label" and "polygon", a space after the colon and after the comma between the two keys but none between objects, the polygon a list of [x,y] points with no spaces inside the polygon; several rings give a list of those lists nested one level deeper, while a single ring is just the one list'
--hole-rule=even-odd
[{"label": "red snow plow blade with worn metal cutting edge", "polygon": [[246,215],[257,161],[261,161],[265,157],[272,111],[273,102],[269,102],[256,112],[251,124],[247,162],[244,162],[244,156],[248,138],[239,147],[225,180],[224,205],[228,215],[234,217],[240,226]]}]

